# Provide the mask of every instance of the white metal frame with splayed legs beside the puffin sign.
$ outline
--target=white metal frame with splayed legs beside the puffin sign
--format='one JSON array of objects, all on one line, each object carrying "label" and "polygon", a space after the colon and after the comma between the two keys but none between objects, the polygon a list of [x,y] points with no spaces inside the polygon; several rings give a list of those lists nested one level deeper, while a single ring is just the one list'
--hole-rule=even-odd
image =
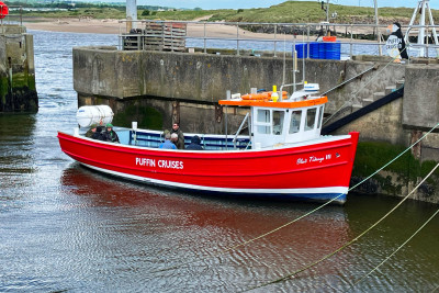
[{"label": "white metal frame with splayed legs beside the puffin sign", "polygon": [[[410,23],[408,24],[408,30],[407,30],[407,32],[405,33],[405,36],[404,36],[405,42],[408,43],[408,37],[409,37],[410,30],[414,29],[414,26],[419,25],[419,26],[415,27],[415,30],[418,29],[418,42],[417,42],[417,44],[420,45],[420,47],[419,47],[419,57],[427,57],[428,56],[428,52],[426,52],[425,46],[424,46],[424,44],[426,42],[426,30],[427,30],[426,25],[431,25],[432,26],[430,30],[431,30],[431,33],[432,33],[434,43],[435,43],[435,45],[439,45],[438,34],[436,32],[436,27],[434,26],[435,25],[435,21],[432,19],[432,14],[431,14],[431,9],[430,9],[430,3],[429,2],[430,2],[429,0],[420,0],[420,1],[418,1],[418,5],[415,8],[415,11],[413,12],[413,16],[412,16]],[[420,14],[419,24],[415,24],[416,16],[418,14]],[[429,24],[426,23],[426,18],[427,16],[428,16]],[[427,44],[428,44],[428,31],[427,31]],[[438,55],[439,55],[439,48],[436,48],[436,50],[438,52]]]}]

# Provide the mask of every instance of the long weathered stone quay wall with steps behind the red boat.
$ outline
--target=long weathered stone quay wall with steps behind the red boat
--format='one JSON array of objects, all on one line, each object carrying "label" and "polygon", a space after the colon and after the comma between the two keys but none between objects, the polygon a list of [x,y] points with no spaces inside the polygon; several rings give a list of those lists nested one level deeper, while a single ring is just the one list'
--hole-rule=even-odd
[{"label": "long weathered stone quay wall with steps behind the red boat", "polygon": [[[297,63],[296,80],[302,80],[302,61]],[[79,105],[110,104],[115,112],[114,124],[130,126],[131,121],[137,121],[139,127],[155,129],[169,128],[178,121],[183,132],[225,133],[227,111],[227,132],[233,133],[247,109],[218,106],[226,90],[248,93],[251,88],[270,90],[273,84],[279,89],[293,81],[292,69],[292,59],[284,63],[282,57],[74,48],[74,87]],[[436,61],[393,64],[385,57],[305,60],[306,80],[319,83],[320,92],[347,81],[328,92],[326,115],[339,109],[350,113],[386,88],[402,80],[405,84],[403,99],[334,133],[360,132],[353,181],[382,167],[439,122],[438,72]],[[439,161],[439,135],[434,133],[402,162],[391,165],[357,191],[405,195],[435,161]],[[439,172],[432,178],[438,177]],[[434,179],[414,198],[439,202],[439,184]]]}]

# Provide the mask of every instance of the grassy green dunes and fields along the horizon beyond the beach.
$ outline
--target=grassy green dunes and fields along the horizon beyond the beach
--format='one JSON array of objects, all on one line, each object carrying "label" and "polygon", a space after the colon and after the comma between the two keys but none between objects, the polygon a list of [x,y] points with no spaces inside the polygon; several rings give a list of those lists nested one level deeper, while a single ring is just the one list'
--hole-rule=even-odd
[{"label": "grassy green dunes and fields along the horizon beyond the beach", "polygon": [[[91,16],[95,19],[124,19],[125,7],[111,3],[92,4],[76,3],[72,8],[68,3],[24,3],[13,2],[23,7],[63,8],[64,11],[50,12],[25,12],[26,15],[46,18]],[[159,11],[158,7],[138,7],[138,19],[140,20],[177,20],[191,21],[200,18],[209,18],[207,21],[226,22],[277,22],[277,23],[317,23],[326,20],[326,13],[322,10],[318,1],[286,1],[278,5],[261,9],[225,9],[225,10],[173,10]],[[337,18],[330,20],[334,23],[374,23],[374,9],[365,7],[347,7],[330,4],[330,13],[337,12]],[[413,8],[380,8],[381,23],[398,21],[408,23]],[[434,18],[439,20],[439,11],[432,10]]]}]

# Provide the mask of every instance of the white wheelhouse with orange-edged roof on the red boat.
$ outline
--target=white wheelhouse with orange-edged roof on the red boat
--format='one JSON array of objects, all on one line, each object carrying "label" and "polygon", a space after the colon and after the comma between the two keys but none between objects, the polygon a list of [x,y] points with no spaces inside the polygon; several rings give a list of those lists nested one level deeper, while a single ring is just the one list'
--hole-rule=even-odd
[{"label": "white wheelhouse with orange-edged roof on the red boat", "polygon": [[[289,99],[267,99],[266,93],[247,94],[247,99],[222,100],[223,105],[250,106],[251,147],[267,148],[320,137],[327,97],[313,95],[318,86],[306,84]],[[250,97],[250,98],[249,98]]]}]

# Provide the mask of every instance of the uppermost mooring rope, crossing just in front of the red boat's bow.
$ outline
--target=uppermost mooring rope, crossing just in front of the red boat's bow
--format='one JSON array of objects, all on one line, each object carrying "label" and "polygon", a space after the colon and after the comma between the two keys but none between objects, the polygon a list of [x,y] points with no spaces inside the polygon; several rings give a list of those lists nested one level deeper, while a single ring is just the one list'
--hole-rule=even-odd
[{"label": "uppermost mooring rope, crossing just in front of the red boat's bow", "polygon": [[[348,189],[348,192],[349,192],[349,191],[352,191],[352,190],[356,189],[356,188],[358,188],[359,185],[361,185],[362,183],[364,183],[365,181],[368,181],[369,179],[371,179],[372,177],[374,177],[376,173],[379,173],[380,171],[382,171],[382,170],[383,170],[384,168],[386,168],[389,165],[391,165],[392,162],[394,162],[395,160],[397,160],[397,159],[398,159],[399,157],[402,157],[405,153],[407,153],[409,149],[412,149],[412,147],[414,147],[416,144],[418,144],[419,142],[421,142],[421,140],[423,140],[427,135],[429,135],[432,131],[435,131],[438,126],[439,126],[439,123],[436,124],[436,125],[435,125],[431,129],[429,129],[427,133],[425,133],[418,140],[416,140],[416,142],[413,143],[410,146],[408,146],[404,151],[402,151],[402,153],[401,153],[399,155],[397,155],[395,158],[393,158],[393,159],[390,160],[387,164],[385,164],[383,167],[381,167],[380,169],[378,169],[376,171],[374,171],[372,174],[370,174],[370,176],[367,177],[365,179],[361,180],[361,181],[360,181],[359,183],[357,183],[356,185],[353,185],[353,187],[351,187],[350,189]],[[228,252],[228,251],[233,251],[233,250],[236,250],[237,248],[239,248],[239,247],[241,247],[241,246],[246,246],[246,245],[248,245],[248,244],[251,244],[251,243],[254,243],[254,241],[256,241],[256,240],[258,240],[258,239],[260,239],[260,238],[263,238],[263,237],[266,237],[266,236],[268,236],[268,235],[273,234],[274,232],[278,232],[278,230],[280,230],[280,229],[284,228],[284,227],[288,227],[288,226],[294,224],[295,222],[299,222],[300,219],[302,219],[302,218],[304,218],[304,217],[309,216],[311,214],[317,212],[318,210],[320,210],[320,209],[325,207],[326,205],[330,204],[331,202],[336,201],[338,198],[342,196],[344,194],[345,194],[345,193],[340,193],[340,194],[337,195],[336,198],[333,198],[331,200],[329,200],[329,201],[323,203],[322,205],[319,205],[319,206],[317,206],[316,209],[314,209],[314,210],[312,210],[312,211],[309,211],[309,212],[303,214],[303,215],[300,216],[300,217],[296,217],[296,218],[294,218],[294,219],[292,219],[292,221],[290,221],[290,222],[288,222],[288,223],[285,223],[285,224],[283,224],[283,225],[281,225],[281,226],[279,226],[279,227],[277,227],[277,228],[274,228],[274,229],[272,229],[272,230],[269,230],[269,232],[267,232],[267,233],[264,233],[264,234],[261,234],[261,235],[259,235],[259,236],[257,236],[257,237],[255,237],[255,238],[251,238],[251,239],[246,240],[246,241],[244,241],[244,243],[240,243],[240,244],[238,244],[238,245],[230,246],[230,247],[228,247],[228,248],[225,248],[225,249],[223,249],[223,250],[219,250],[218,252],[216,252],[216,253],[213,255],[213,256],[210,256],[210,257],[206,257],[206,258],[199,258],[199,259],[193,260],[193,261],[183,262],[183,263],[180,263],[180,264],[177,264],[177,266],[172,266],[172,267],[165,268],[165,269],[160,269],[160,270],[155,270],[155,271],[151,271],[151,272],[161,272],[161,271],[175,270],[175,269],[178,269],[178,268],[180,268],[180,267],[193,264],[193,263],[196,263],[196,262],[199,262],[199,261],[206,260],[206,259],[217,258],[217,257],[219,257],[219,256],[222,256],[222,255],[224,255],[224,253],[226,253],[226,252]]]}]

